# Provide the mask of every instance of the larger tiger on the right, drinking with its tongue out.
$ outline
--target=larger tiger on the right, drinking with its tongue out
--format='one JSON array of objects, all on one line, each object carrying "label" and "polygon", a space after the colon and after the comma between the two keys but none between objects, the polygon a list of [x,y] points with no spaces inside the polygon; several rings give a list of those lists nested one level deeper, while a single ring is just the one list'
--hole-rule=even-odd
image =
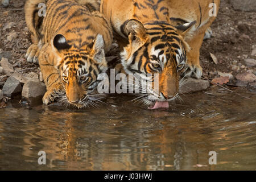
[{"label": "larger tiger on the right, drinking with its tongue out", "polygon": [[[210,9],[214,4],[214,11]],[[126,73],[159,73],[158,93],[147,90],[150,109],[168,107],[179,93],[180,75],[200,78],[200,47],[216,18],[220,0],[102,0],[101,13],[110,20]],[[186,65],[186,66],[185,66]],[[153,78],[142,77],[152,81]],[[155,84],[156,85],[156,84]]]}]

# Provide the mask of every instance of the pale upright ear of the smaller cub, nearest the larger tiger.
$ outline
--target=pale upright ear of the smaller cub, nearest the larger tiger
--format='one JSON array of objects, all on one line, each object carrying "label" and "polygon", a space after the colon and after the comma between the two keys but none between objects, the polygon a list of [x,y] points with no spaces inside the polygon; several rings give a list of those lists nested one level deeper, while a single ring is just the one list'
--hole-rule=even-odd
[{"label": "pale upright ear of the smaller cub, nearest the larger tiger", "polygon": [[93,59],[98,63],[106,61],[104,52],[104,39],[102,35],[98,34],[93,43]]}]

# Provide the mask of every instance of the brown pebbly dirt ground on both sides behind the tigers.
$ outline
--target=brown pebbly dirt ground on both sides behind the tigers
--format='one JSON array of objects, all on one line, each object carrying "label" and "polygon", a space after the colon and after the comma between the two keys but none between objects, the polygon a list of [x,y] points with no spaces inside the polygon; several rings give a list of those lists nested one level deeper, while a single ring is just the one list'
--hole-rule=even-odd
[{"label": "brown pebbly dirt ground on both sides behind the tigers", "polygon": [[[38,65],[27,63],[25,59],[31,39],[23,7],[24,0],[11,1],[7,8],[0,5],[0,59],[6,57],[20,73],[39,73]],[[218,77],[218,72],[232,73],[234,77],[243,72],[256,74],[255,67],[247,67],[245,63],[247,58],[256,58],[251,55],[253,45],[256,46],[255,20],[255,12],[235,11],[228,0],[221,0],[219,14],[212,24],[213,37],[205,40],[201,48],[200,61],[204,79],[212,80]],[[218,64],[213,62],[210,53],[217,57]],[[117,54],[116,51],[108,53]],[[6,79],[0,80],[0,89]],[[236,84],[235,78],[230,79],[225,86]]]}]

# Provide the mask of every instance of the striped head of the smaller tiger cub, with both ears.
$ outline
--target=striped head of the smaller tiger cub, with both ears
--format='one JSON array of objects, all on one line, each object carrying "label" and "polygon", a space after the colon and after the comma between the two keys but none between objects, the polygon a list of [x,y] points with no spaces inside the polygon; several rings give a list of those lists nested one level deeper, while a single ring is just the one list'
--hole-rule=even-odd
[{"label": "striped head of the smaller tiger cub, with both ears", "polygon": [[96,93],[98,76],[107,71],[108,65],[102,35],[92,39],[92,43],[79,49],[70,46],[69,40],[61,34],[53,39],[56,65],[65,89],[65,93],[59,94],[59,101],[65,105],[83,108],[96,105],[93,101],[100,101]]}]

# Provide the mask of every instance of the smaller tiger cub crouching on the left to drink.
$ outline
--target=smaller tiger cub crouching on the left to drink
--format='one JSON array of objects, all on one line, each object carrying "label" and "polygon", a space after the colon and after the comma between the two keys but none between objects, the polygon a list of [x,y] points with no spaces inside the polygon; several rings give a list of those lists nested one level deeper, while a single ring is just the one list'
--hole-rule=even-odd
[{"label": "smaller tiger cub crouching on the left to drink", "polygon": [[[38,16],[39,3],[46,3],[45,17]],[[47,86],[43,103],[59,99],[78,108],[94,105],[98,76],[108,69],[105,51],[113,39],[108,20],[72,0],[28,0],[25,15],[34,43],[26,57],[39,61]]]}]

